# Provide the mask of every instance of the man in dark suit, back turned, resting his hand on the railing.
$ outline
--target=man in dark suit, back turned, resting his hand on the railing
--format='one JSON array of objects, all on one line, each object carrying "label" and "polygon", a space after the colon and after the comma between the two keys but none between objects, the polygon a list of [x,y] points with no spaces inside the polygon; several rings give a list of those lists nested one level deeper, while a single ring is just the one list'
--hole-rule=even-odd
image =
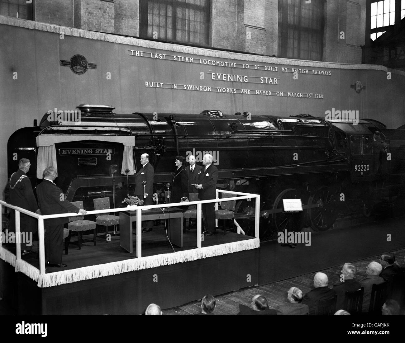
[{"label": "man in dark suit, back turned, resting his hand on the railing", "polygon": [[[62,189],[53,183],[58,176],[54,167],[44,170],[44,180],[36,187],[36,195],[43,216],[47,214],[62,214],[75,212],[85,215],[75,205],[64,199]],[[63,224],[69,222],[69,217],[51,218],[44,220],[46,230],[46,249],[49,267],[67,267],[62,263]]]}]

